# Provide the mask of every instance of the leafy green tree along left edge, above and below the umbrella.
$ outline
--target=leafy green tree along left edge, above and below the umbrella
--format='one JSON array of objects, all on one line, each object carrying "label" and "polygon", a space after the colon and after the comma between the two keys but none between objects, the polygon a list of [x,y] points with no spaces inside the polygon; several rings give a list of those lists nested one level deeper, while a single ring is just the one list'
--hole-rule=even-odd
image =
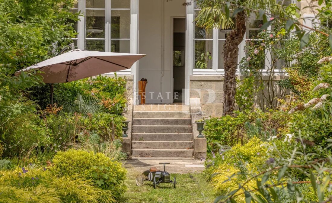
[{"label": "leafy green tree along left edge, above and below the umbrella", "polygon": [[[23,144],[32,148],[35,138],[40,140],[34,143],[45,140],[44,129],[35,119],[36,105],[26,98],[26,90],[40,84],[41,77],[34,72],[19,76],[14,73],[51,57],[72,41],[77,33],[71,22],[78,20],[78,14],[69,11],[74,3],[75,0],[0,0],[0,148],[4,146],[4,151],[11,149],[16,154],[15,149]],[[24,123],[29,123],[23,127],[36,135],[29,135],[31,140],[23,134],[29,131],[20,127]]]}]

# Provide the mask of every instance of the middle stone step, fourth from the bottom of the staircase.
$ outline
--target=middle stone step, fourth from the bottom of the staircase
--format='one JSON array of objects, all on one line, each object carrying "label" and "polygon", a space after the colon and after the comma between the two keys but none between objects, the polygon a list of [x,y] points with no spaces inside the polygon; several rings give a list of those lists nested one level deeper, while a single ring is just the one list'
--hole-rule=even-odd
[{"label": "middle stone step, fourth from the bottom of the staircase", "polygon": [[192,133],[191,126],[132,126],[132,133]]}]

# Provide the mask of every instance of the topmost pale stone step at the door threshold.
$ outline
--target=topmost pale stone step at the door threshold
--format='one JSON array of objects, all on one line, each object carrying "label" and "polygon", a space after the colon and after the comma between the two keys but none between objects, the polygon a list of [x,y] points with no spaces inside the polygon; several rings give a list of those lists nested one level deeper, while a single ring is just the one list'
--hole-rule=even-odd
[{"label": "topmost pale stone step at the door threshold", "polygon": [[190,107],[187,105],[178,104],[145,104],[135,105],[134,111],[187,111],[189,112]]}]

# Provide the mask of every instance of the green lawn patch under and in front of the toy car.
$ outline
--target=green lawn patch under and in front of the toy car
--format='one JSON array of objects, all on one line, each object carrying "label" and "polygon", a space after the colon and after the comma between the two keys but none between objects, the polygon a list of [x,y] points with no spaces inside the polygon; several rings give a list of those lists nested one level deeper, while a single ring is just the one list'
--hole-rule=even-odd
[{"label": "green lawn patch under and in front of the toy car", "polygon": [[160,183],[153,189],[149,181],[136,186],[135,176],[138,173],[129,173],[128,191],[120,200],[123,203],[210,203],[215,198],[212,186],[201,173],[171,174],[171,180],[176,177],[175,189],[171,183]]}]

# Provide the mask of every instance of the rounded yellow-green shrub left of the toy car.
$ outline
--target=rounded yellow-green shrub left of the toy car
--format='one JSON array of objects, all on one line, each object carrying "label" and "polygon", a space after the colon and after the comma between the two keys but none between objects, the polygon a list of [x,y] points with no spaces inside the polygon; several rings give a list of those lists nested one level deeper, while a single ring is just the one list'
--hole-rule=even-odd
[{"label": "rounded yellow-green shrub left of the toy car", "polygon": [[102,189],[112,190],[119,197],[125,190],[126,169],[102,153],[70,149],[58,152],[53,158],[55,174],[92,180]]}]

